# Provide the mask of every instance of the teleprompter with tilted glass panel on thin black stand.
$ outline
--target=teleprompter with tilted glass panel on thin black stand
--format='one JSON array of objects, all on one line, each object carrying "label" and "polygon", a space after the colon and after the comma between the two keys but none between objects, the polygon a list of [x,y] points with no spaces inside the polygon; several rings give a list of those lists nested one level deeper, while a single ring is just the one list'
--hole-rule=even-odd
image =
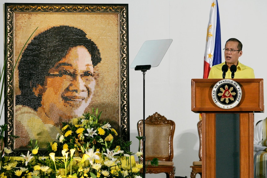
[{"label": "teleprompter with tilted glass panel on thin black stand", "polygon": [[151,67],[160,64],[172,41],[172,39],[145,41],[130,66],[136,71],[143,72],[143,178],[146,176],[145,74]]}]

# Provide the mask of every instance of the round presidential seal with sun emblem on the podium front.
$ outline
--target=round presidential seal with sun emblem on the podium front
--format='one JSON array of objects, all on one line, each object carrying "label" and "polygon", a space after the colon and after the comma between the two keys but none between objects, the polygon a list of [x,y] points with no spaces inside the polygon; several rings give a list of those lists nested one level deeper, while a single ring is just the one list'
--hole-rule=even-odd
[{"label": "round presidential seal with sun emblem on the podium front", "polygon": [[241,87],[234,80],[220,80],[212,88],[212,100],[222,109],[234,108],[239,104],[241,98]]}]

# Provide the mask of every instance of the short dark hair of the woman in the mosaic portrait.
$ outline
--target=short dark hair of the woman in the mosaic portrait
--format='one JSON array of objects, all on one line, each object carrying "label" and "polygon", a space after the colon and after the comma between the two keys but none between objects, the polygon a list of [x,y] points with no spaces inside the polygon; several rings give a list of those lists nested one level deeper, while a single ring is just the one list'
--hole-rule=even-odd
[{"label": "short dark hair of the woman in the mosaic portrait", "polygon": [[15,104],[37,111],[41,106],[42,96],[36,96],[33,88],[38,84],[44,86],[45,76],[49,74],[50,68],[75,46],[85,46],[91,54],[94,67],[100,63],[98,47],[81,29],[70,26],[52,27],[35,36],[24,50],[18,65],[21,94],[16,96]]}]

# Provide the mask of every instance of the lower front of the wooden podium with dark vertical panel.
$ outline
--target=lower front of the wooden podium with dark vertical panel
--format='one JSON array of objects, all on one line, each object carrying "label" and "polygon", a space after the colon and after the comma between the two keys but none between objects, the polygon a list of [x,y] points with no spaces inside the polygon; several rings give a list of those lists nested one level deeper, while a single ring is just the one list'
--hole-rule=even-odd
[{"label": "lower front of the wooden podium with dark vertical panel", "polygon": [[253,178],[253,113],[203,113],[202,177]]}]

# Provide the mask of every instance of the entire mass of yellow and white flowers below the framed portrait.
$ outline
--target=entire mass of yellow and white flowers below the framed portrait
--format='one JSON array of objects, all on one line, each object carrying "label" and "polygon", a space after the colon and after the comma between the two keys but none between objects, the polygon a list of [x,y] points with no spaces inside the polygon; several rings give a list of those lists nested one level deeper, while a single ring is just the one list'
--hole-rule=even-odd
[{"label": "entire mass of yellow and white flowers below the framed portrait", "polygon": [[[48,144],[47,157],[38,155],[37,141],[31,141],[31,149],[16,160],[5,156],[0,178],[142,178],[143,164],[135,162],[131,142],[114,141],[116,130],[99,122],[101,112],[93,109],[93,113],[64,122],[56,141]],[[140,160],[142,152],[136,155]]]}]

